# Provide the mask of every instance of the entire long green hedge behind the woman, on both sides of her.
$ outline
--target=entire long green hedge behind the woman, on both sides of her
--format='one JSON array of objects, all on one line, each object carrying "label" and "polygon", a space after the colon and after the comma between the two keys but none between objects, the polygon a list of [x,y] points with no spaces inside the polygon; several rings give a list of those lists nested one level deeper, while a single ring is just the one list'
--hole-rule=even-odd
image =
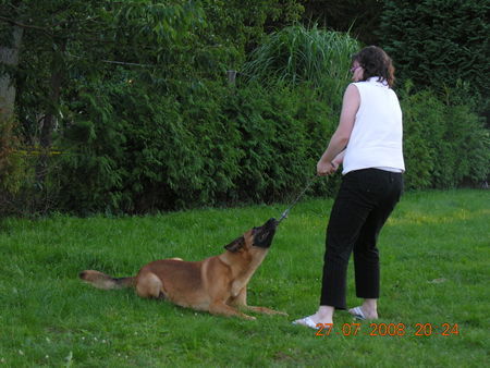
[{"label": "entire long green hedge behind the woman, on both sides of her", "polygon": [[[306,85],[265,90],[208,82],[175,90],[148,95],[144,86],[118,82],[82,95],[86,115],[66,130],[58,163],[63,211],[289,201],[314,176],[338,123]],[[412,93],[409,84],[400,97],[408,189],[487,179],[488,130],[468,105]],[[318,181],[311,194],[332,195],[339,180]]]}]

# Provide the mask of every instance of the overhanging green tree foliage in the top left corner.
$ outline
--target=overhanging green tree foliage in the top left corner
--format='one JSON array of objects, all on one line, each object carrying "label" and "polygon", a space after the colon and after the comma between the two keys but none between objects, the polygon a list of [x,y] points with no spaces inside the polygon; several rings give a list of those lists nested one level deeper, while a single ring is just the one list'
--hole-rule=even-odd
[{"label": "overhanging green tree foliage in the top left corner", "polygon": [[203,22],[200,9],[191,1],[2,0],[0,7],[3,41],[9,41],[12,26],[25,30],[15,71],[16,105],[33,143],[42,135],[40,126],[50,137],[53,126],[46,130],[47,119],[62,116],[74,87],[106,77],[113,63],[168,71],[172,45]]}]

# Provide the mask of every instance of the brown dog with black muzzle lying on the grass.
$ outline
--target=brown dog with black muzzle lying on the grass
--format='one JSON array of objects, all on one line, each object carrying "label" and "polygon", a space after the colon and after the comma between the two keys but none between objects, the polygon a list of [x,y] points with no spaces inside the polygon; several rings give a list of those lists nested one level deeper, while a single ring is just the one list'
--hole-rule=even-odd
[{"label": "brown dog with black muzzle lying on the grass", "polygon": [[152,261],[134,278],[114,279],[86,270],[79,278],[96,287],[111,290],[135,287],[142,297],[166,298],[182,307],[207,310],[213,315],[255,319],[238,310],[279,314],[266,307],[247,305],[247,284],[266,258],[278,221],[270,219],[234,240],[219,256],[189,262],[180,258]]}]

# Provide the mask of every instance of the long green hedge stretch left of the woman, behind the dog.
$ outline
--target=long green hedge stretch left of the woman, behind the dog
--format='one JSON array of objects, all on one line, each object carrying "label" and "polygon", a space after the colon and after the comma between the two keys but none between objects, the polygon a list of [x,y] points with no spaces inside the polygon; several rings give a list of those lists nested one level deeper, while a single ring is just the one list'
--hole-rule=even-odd
[{"label": "long green hedge stretch left of the woman, behind the dog", "polygon": [[[336,124],[311,88],[218,83],[149,95],[91,86],[64,130],[60,208],[147,212],[290,200],[315,174]],[[73,107],[75,108],[75,107]],[[318,194],[331,185],[318,184]]]}]

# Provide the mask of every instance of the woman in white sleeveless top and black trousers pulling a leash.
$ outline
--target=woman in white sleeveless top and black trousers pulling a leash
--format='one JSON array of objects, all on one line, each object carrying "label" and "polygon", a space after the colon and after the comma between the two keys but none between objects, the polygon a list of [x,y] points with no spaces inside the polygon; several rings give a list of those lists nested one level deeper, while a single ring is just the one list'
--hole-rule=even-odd
[{"label": "woman in white sleeveless top and black trousers pulling a leash", "polygon": [[405,170],[402,152],[402,111],[391,89],[394,69],[379,47],[353,57],[354,83],[345,90],[339,126],[317,163],[318,175],[343,164],[343,179],[327,228],[320,307],[294,321],[313,329],[333,323],[333,311],[346,309],[347,263],[354,253],[359,307],[348,311],[360,319],[378,318],[378,234],[400,200]]}]

